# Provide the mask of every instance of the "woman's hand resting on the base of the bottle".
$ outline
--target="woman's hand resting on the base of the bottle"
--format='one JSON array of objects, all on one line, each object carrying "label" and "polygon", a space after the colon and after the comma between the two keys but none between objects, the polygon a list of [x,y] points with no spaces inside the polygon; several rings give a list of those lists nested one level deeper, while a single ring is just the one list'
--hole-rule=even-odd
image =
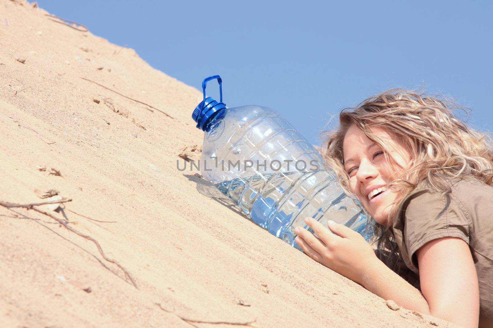
[{"label": "woman's hand resting on the base of the bottle", "polygon": [[[330,231],[313,218],[305,223],[313,229],[318,238],[308,230],[297,227],[294,240],[315,261],[347,278],[363,285],[366,273],[380,260],[363,237],[352,229],[329,221]],[[333,234],[331,233],[333,232]]]}]

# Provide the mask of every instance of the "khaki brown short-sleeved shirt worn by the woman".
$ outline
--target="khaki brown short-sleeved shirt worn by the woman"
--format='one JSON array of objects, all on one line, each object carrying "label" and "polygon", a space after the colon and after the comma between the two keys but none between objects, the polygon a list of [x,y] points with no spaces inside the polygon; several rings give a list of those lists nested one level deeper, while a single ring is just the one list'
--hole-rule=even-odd
[{"label": "khaki brown short-sleeved shirt worn by the woman", "polygon": [[469,245],[479,282],[479,326],[493,327],[493,187],[477,179],[434,191],[423,181],[400,203],[392,222],[408,268],[419,274],[416,251],[428,241],[457,237]]}]

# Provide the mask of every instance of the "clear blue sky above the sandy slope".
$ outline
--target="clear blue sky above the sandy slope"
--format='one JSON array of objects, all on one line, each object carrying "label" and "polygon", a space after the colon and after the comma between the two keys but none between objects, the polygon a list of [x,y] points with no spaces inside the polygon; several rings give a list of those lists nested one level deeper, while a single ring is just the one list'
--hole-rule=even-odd
[{"label": "clear blue sky above the sandy slope", "polygon": [[228,107],[274,108],[314,144],[332,115],[394,87],[453,96],[493,130],[491,1],[38,4],[198,89],[221,75]]}]

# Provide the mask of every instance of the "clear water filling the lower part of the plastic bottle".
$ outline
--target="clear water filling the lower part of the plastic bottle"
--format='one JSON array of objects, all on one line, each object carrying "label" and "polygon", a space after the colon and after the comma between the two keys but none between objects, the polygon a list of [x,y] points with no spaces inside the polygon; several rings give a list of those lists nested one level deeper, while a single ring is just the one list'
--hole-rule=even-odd
[{"label": "clear water filling the lower part of the plastic bottle", "polygon": [[325,170],[259,174],[222,181],[214,186],[256,224],[295,247],[294,228],[308,228],[304,223],[306,217],[316,219],[325,227],[328,220],[333,220],[367,240],[370,237],[366,231],[367,217],[357,202],[348,197]]}]

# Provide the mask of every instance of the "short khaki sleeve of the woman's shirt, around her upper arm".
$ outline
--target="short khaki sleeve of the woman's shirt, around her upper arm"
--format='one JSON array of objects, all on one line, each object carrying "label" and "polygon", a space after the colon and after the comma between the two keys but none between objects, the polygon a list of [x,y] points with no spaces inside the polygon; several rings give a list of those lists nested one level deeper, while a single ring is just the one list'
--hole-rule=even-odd
[{"label": "short khaki sleeve of the woman's shirt, around her upper arm", "polygon": [[[416,251],[428,241],[457,237],[469,245],[470,215],[450,193],[426,188],[408,201],[403,239],[411,265],[418,270]],[[469,217],[469,218],[468,218]]]}]

